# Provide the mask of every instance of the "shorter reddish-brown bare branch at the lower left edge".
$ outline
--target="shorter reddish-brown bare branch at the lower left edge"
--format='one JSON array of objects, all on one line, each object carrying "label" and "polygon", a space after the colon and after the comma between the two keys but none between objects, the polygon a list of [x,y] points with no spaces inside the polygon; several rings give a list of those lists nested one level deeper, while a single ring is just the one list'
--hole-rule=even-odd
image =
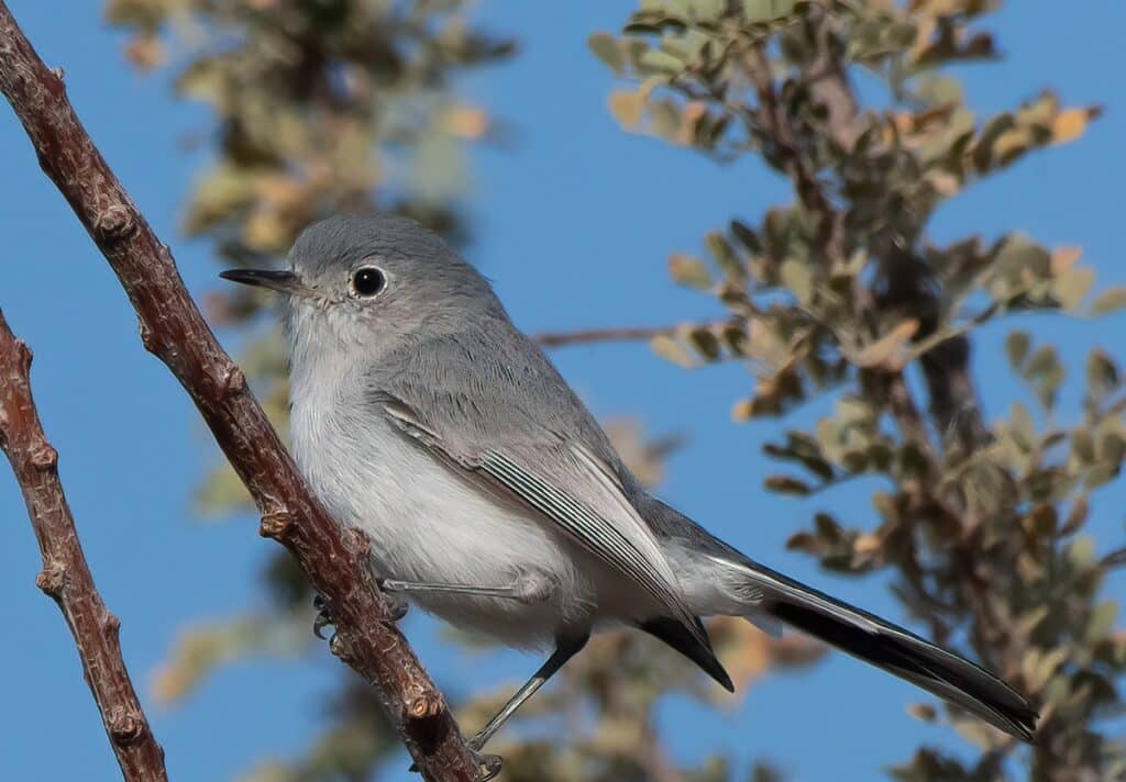
[{"label": "shorter reddish-brown bare branch at the lower left edge", "polygon": [[126,781],[168,780],[164,750],[152,735],[122,659],[122,623],[101,602],[82,554],[59,479],[59,453],[43,433],[32,398],[30,366],[32,351],[16,339],[0,313],[0,448],[24,493],[43,555],[35,584],[63,612]]}]

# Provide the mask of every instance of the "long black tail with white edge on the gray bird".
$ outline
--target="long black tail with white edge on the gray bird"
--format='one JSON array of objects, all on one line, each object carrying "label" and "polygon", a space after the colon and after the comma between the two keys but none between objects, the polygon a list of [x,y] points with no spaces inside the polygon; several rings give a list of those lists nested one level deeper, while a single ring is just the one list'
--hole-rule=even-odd
[{"label": "long black tail with white edge on the gray bird", "polygon": [[758,611],[1033,743],[1039,714],[1019,693],[984,668],[758,563],[745,565],[751,582],[748,590]]}]

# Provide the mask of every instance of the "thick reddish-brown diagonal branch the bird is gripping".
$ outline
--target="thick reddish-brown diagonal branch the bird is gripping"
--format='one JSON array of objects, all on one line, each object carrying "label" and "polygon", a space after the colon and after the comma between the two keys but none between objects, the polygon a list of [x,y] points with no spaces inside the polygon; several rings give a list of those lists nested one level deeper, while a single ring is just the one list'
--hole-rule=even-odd
[{"label": "thick reddish-brown diagonal branch the bird is gripping", "polygon": [[262,514],[260,532],[297,558],[337,623],[332,651],[378,692],[423,776],[474,780],[476,762],[441,693],[390,621],[368,567],[367,540],[346,533],[310,493],[247,387],[188,296],[168,248],[133,205],[48,70],[0,0],[0,90],[39,165],[113,267],[140,320],[141,339],[187,389]]}]

